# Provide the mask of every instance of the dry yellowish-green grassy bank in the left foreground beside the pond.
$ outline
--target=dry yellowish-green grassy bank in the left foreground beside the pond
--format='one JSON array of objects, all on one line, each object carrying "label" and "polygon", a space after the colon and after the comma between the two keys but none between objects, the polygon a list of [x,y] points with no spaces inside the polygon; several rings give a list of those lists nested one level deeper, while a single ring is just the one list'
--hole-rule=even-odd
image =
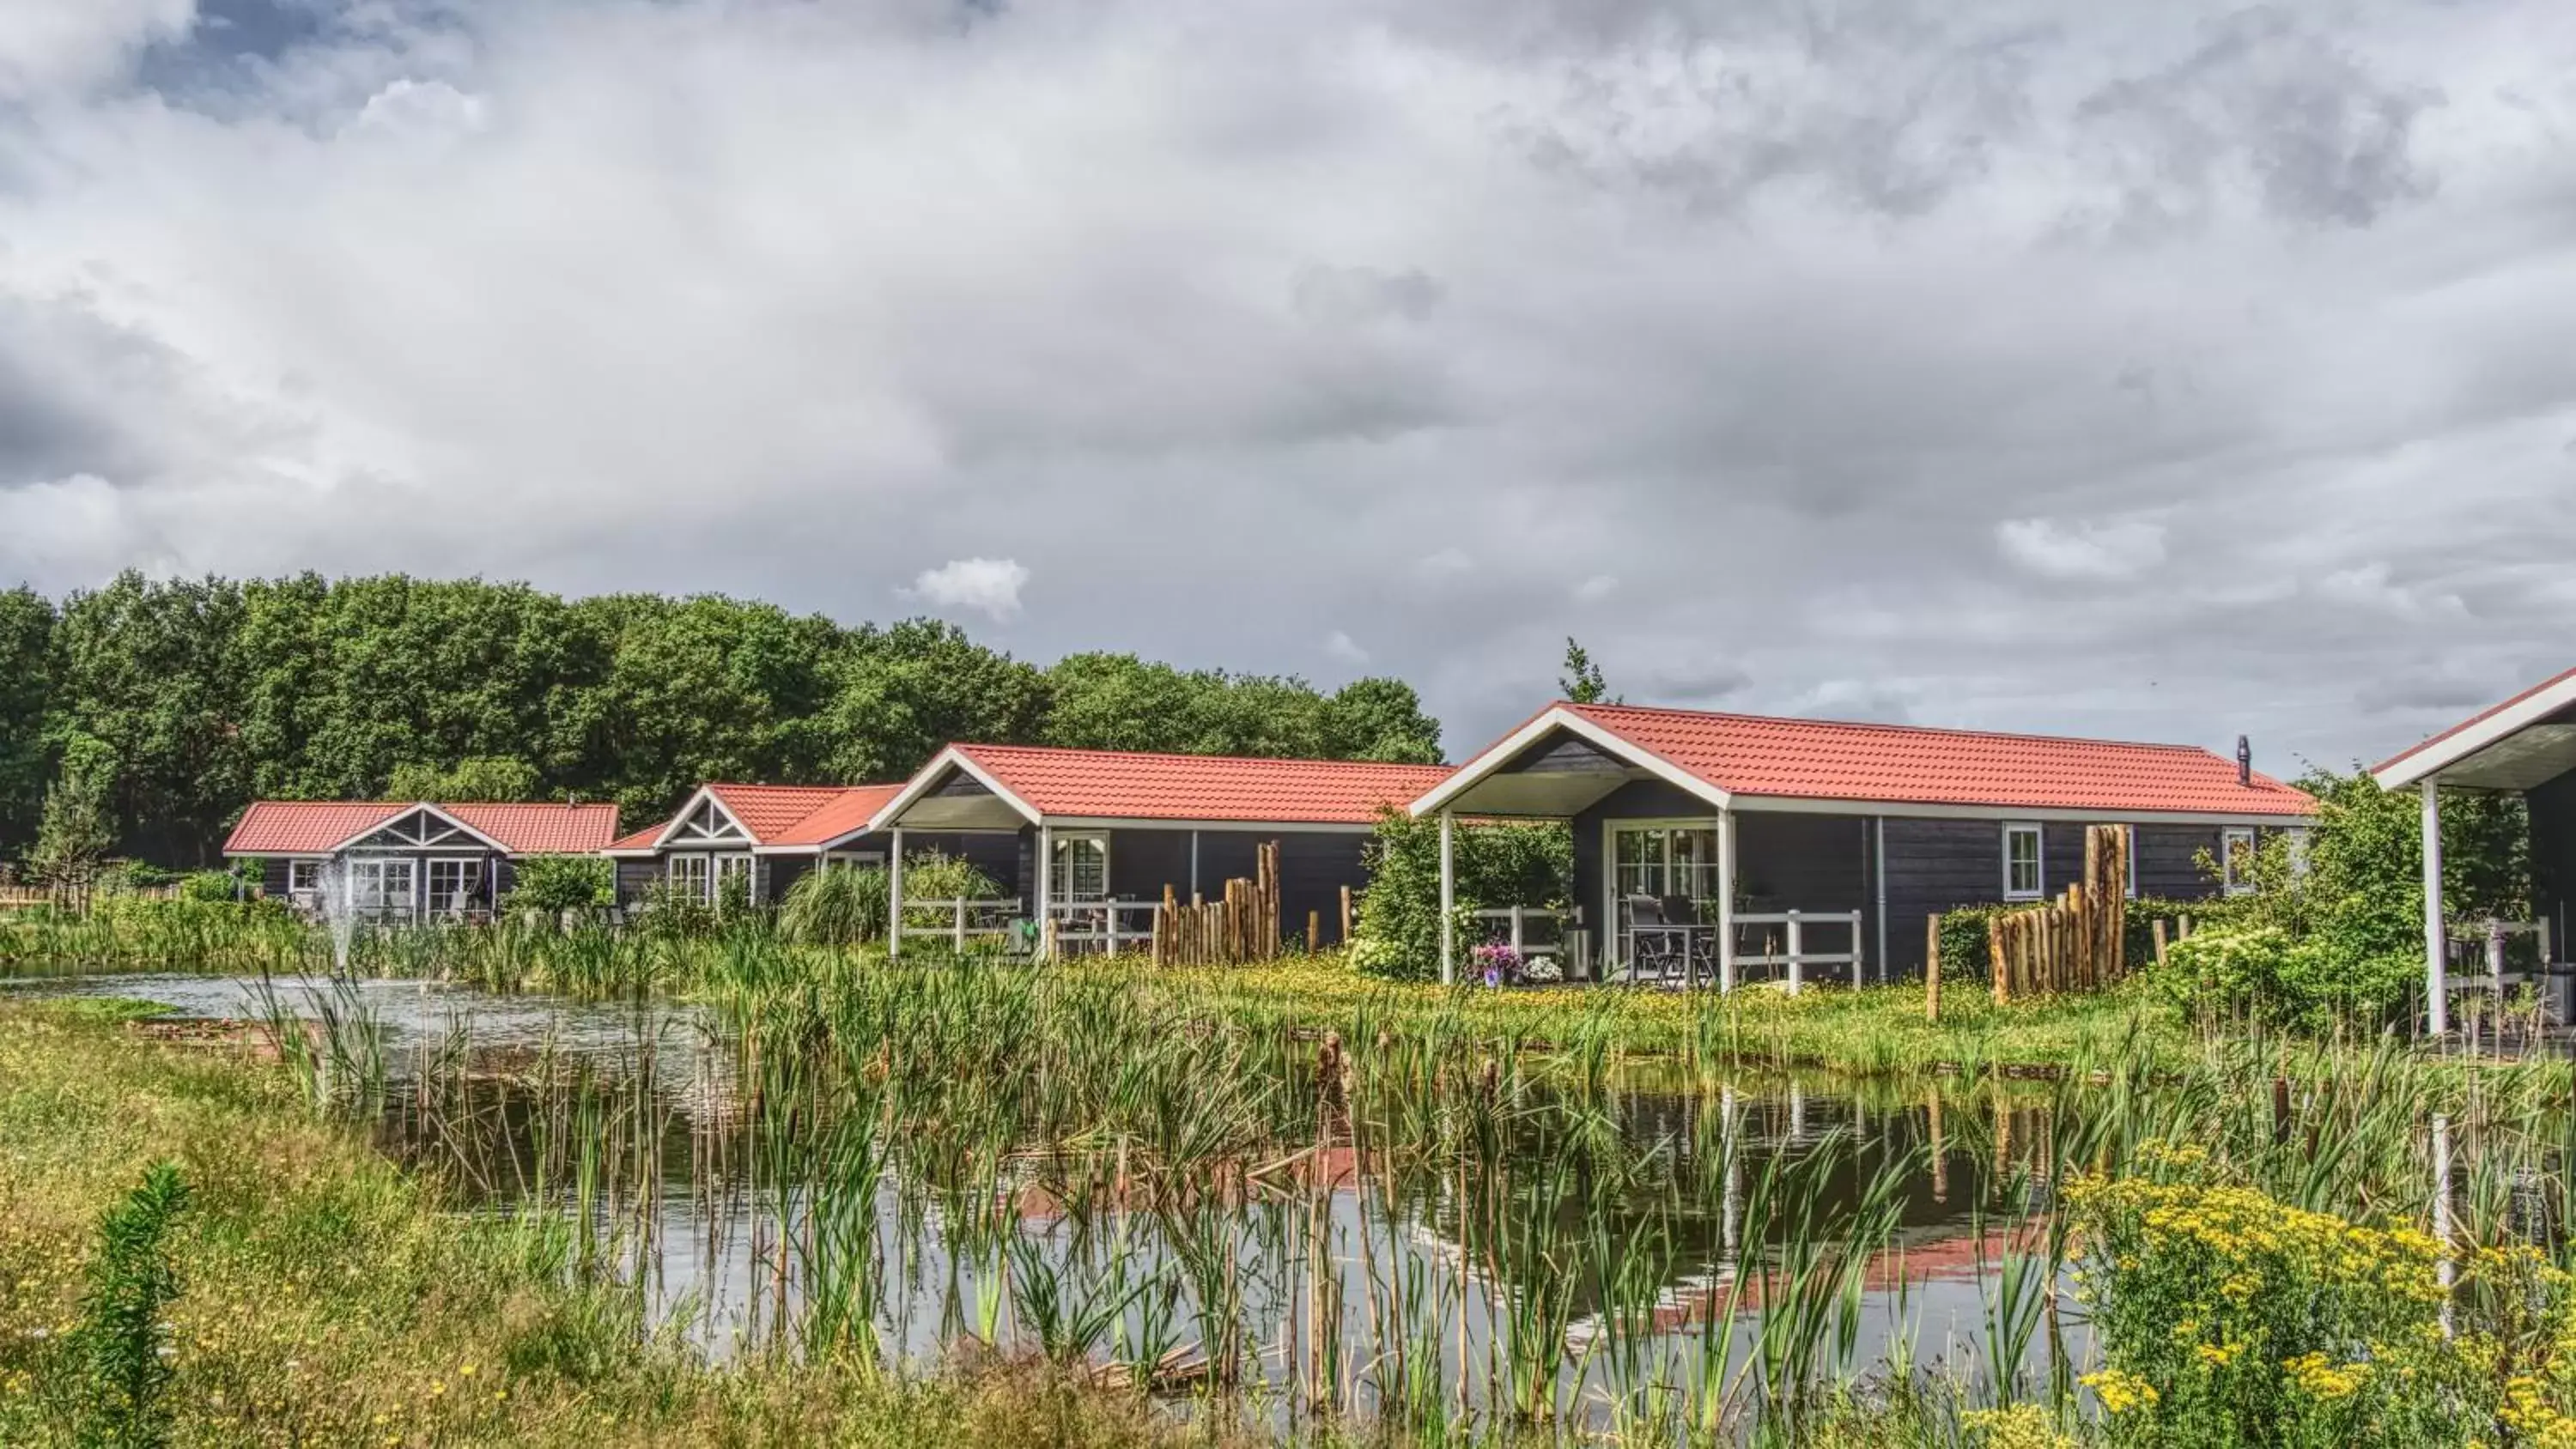
[{"label": "dry yellowish-green grassy bank in the left foreground beside the pond", "polygon": [[[1149,1446],[1141,1400],[1043,1369],[896,1382],[858,1361],[708,1367],[564,1287],[538,1233],[461,1217],[294,1078],[72,1004],[0,1004],[0,1444],[70,1446],[98,1217],[155,1161],[191,1202],[173,1444]],[[1218,1434],[1229,1441],[1231,1434]],[[1195,1434],[1193,1441],[1206,1441]]]}]

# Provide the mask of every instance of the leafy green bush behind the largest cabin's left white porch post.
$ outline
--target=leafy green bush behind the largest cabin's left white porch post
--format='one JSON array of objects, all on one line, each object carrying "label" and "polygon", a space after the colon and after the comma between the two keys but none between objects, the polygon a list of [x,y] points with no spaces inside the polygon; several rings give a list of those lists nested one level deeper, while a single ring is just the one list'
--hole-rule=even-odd
[{"label": "leafy green bush behind the largest cabin's left white porch post", "polygon": [[[1378,816],[1368,842],[1368,888],[1358,898],[1350,960],[1368,975],[1440,975],[1440,821]],[[1574,896],[1574,829],[1566,824],[1463,824],[1455,836],[1458,950],[1473,945],[1468,911],[1561,909]]]}]

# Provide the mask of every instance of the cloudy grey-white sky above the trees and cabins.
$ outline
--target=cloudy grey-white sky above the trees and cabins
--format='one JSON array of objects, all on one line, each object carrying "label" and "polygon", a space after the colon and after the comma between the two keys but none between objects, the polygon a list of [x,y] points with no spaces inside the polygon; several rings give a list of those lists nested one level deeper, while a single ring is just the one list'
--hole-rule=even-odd
[{"label": "cloudy grey-white sky above the trees and cabins", "polygon": [[2561,0],[0,0],[0,582],[2378,757],[2576,664]]}]

